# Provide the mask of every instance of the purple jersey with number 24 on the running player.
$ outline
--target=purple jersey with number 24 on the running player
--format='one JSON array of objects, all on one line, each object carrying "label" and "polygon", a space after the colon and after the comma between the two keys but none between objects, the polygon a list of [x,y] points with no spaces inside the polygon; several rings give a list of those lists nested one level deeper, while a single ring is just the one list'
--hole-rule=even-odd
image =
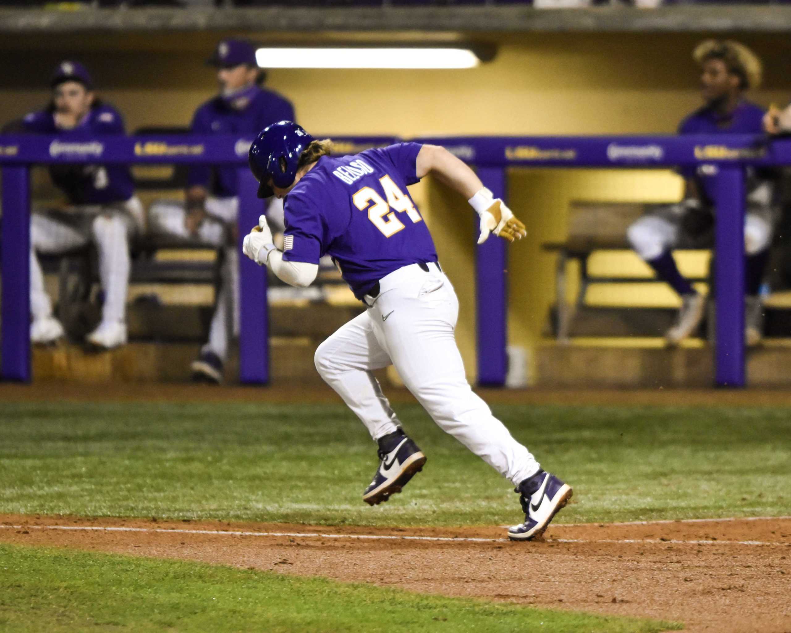
[{"label": "purple jersey with number 24 on the running player", "polygon": [[358,299],[411,263],[435,262],[431,233],[407,185],[420,180],[422,145],[398,143],[354,156],[319,159],[286,195],[283,260],[332,256]]}]

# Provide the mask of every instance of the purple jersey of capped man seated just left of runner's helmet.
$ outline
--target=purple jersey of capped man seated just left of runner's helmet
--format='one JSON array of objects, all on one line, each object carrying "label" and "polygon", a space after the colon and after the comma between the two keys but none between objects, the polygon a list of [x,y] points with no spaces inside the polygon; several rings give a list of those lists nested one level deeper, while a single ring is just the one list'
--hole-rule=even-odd
[{"label": "purple jersey of capped man seated just left of runner's helmet", "polygon": [[[271,90],[254,86],[250,89],[249,103],[244,108],[233,108],[222,97],[214,97],[202,104],[192,117],[194,134],[232,134],[255,137],[264,127],[278,121],[293,121],[294,108],[289,100]],[[195,165],[187,176],[187,186],[199,185],[218,196],[230,198],[237,195],[237,167]]]}]

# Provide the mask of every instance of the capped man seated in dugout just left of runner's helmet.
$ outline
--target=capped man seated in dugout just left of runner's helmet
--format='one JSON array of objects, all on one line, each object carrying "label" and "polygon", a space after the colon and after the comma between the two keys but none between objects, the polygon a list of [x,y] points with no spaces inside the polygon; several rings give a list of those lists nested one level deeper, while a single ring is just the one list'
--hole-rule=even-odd
[{"label": "capped man seated in dugout just left of runner's helmet", "polygon": [[[218,68],[220,93],[195,111],[193,133],[252,139],[271,123],[293,120],[290,101],[260,87],[265,75],[255,62],[255,47],[250,42],[222,40],[208,63]],[[195,165],[187,179],[185,203],[154,203],[149,209],[149,228],[153,233],[225,247],[209,341],[191,365],[195,381],[222,381],[228,358],[229,318],[233,318],[234,334],[239,329],[238,207],[237,167]],[[282,222],[282,202],[272,199],[267,214],[275,216],[276,225]],[[233,314],[229,315],[231,306]]]}]

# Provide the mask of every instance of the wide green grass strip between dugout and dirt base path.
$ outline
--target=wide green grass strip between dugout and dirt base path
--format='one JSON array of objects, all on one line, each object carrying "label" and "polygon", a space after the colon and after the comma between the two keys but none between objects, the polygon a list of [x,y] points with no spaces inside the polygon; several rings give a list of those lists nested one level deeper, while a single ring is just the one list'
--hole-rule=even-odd
[{"label": "wide green grass strip between dugout and dirt base path", "polygon": [[[495,407],[574,487],[562,521],[789,514],[783,408]],[[3,404],[0,512],[354,525],[502,525],[508,482],[417,406],[429,457],[369,508],[375,445],[342,405]]]}]

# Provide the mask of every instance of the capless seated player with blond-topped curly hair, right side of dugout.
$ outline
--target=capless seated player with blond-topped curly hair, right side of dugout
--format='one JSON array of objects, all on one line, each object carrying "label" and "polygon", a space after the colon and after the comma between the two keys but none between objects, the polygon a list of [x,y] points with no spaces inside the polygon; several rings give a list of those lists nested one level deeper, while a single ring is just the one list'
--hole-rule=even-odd
[{"label": "capless seated player with blond-topped curly hair, right side of dugout", "polygon": [[[744,98],[761,81],[761,62],[747,47],[733,41],[706,40],[694,49],[701,68],[705,104],[679,125],[679,134],[761,134],[763,108]],[[713,244],[714,175],[716,165],[683,168],[686,179],[680,203],[655,207],[629,227],[632,248],[682,299],[678,320],[665,338],[670,345],[692,335],[706,309],[702,297],[676,267],[673,248],[710,248]],[[776,215],[774,183],[770,175],[747,172],[747,215],[744,222],[746,260],[745,340],[759,343],[763,331],[763,307],[759,287],[763,279]]]}]

